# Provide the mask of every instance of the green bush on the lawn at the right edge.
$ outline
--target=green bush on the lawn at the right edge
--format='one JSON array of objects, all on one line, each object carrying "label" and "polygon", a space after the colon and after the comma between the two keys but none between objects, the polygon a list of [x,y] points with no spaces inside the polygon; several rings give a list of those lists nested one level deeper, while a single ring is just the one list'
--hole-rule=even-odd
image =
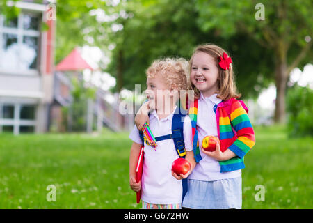
[{"label": "green bush on the lawn at the right edge", "polygon": [[[296,84],[295,84],[296,85]],[[313,137],[313,91],[294,86],[287,94],[288,129],[291,137]]]}]

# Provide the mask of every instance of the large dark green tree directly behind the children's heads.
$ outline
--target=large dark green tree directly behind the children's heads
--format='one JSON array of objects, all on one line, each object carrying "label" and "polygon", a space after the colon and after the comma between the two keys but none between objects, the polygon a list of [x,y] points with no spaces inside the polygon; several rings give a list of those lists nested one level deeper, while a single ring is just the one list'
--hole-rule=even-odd
[{"label": "large dark green tree directly behind the children's heads", "polygon": [[[244,98],[256,97],[259,90],[270,83],[271,67],[274,66],[271,50],[264,50],[243,32],[225,36],[218,27],[203,31],[194,1],[137,0],[129,2],[127,7],[134,16],[125,20],[123,29],[116,33],[120,41],[107,69],[118,82],[123,82],[115,91],[120,91],[121,86],[125,89],[134,89],[135,84],[145,86],[145,70],[154,59],[161,56],[189,59],[194,47],[202,43],[215,43],[230,52],[236,77],[240,80],[237,86]],[[123,52],[122,72],[118,72],[120,51]],[[260,55],[264,59],[255,63]]]}]

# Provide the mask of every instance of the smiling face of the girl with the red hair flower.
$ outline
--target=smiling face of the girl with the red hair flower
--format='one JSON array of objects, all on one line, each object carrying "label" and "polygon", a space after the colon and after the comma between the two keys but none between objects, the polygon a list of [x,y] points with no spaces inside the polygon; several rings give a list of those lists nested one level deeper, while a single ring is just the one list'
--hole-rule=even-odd
[{"label": "smiling face of the girl with the red hair flower", "polygon": [[218,91],[218,67],[214,58],[204,52],[197,52],[191,64],[191,83],[199,89],[204,97]]}]

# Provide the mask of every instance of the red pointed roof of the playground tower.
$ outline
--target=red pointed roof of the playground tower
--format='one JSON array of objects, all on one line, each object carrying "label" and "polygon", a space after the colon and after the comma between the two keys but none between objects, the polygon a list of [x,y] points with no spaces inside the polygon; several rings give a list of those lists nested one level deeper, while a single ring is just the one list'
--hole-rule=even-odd
[{"label": "red pointed roof of the playground tower", "polygon": [[90,69],[94,70],[82,57],[78,49],[75,48],[68,54],[65,59],[63,59],[56,66],[58,71],[69,71],[69,70],[84,70]]}]

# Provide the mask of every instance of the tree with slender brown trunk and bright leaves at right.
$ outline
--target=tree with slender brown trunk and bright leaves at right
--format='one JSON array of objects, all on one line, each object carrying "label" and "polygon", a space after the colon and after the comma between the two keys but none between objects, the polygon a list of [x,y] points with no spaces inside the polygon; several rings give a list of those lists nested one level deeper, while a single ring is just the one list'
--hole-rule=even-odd
[{"label": "tree with slender brown trunk and bright leaves at right", "polygon": [[[285,94],[292,69],[312,63],[313,2],[263,1],[265,20],[256,20],[257,1],[197,1],[203,31],[220,30],[221,36],[246,33],[255,42],[272,52],[277,89],[275,122],[285,120]],[[254,50],[254,47],[249,48]],[[259,54],[259,60],[264,59]],[[255,61],[255,62],[258,62]]]}]

